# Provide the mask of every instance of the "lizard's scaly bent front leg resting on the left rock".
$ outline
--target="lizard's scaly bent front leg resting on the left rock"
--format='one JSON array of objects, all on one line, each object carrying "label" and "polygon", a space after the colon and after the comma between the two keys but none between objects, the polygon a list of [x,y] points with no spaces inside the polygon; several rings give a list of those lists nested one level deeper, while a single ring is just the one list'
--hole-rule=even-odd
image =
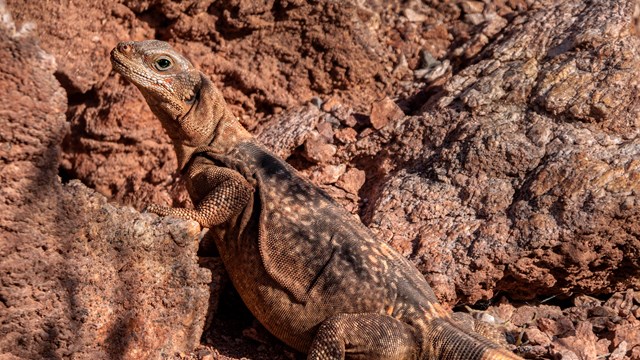
[{"label": "lizard's scaly bent front leg resting on the left rock", "polygon": [[[200,200],[195,209],[149,205],[147,211],[160,216],[195,220],[203,227],[222,224],[238,214],[251,198],[253,187],[237,171],[212,164],[194,164],[189,169],[190,187]],[[195,200],[195,199],[194,199]]]}]

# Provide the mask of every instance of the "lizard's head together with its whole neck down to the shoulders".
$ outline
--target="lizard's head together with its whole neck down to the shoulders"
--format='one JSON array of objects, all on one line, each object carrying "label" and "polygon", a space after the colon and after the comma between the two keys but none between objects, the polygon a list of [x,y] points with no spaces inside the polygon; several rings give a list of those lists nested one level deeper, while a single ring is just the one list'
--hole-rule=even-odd
[{"label": "lizard's head together with its whole neck down to the shoulders", "polygon": [[121,42],[111,51],[111,64],[140,89],[162,122],[173,141],[179,169],[200,146],[225,151],[251,136],[211,80],[166,42]]}]

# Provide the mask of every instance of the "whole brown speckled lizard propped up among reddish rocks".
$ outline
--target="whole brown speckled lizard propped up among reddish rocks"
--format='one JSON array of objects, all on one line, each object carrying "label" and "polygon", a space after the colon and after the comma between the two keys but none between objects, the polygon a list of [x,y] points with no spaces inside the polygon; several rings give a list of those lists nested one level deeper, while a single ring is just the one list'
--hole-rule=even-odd
[{"label": "whole brown speckled lizard propped up among reddish rocks", "polygon": [[220,90],[168,43],[121,42],[113,69],[168,133],[233,286],[273,335],[312,360],[521,359],[456,321],[424,276],[261,145]]}]

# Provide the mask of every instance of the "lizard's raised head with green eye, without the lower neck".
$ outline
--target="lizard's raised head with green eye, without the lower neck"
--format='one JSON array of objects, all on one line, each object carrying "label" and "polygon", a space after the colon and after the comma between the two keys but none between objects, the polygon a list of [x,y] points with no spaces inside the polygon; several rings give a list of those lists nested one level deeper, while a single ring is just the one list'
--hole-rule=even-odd
[{"label": "lizard's raised head with green eye, without the lower neck", "polygon": [[[210,104],[208,99],[224,100],[213,84],[168,43],[121,42],[111,51],[111,64],[140,89],[174,142],[197,147],[211,141],[217,123],[203,115],[211,113],[209,107],[216,103]],[[201,92],[205,91],[214,94],[204,96]]]}]

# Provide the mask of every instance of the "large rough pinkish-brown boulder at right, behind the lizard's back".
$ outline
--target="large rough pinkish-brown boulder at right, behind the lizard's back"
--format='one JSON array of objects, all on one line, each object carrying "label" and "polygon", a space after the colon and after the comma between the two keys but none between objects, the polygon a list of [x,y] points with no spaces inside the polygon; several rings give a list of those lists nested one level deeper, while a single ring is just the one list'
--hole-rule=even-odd
[{"label": "large rough pinkish-brown boulder at right, behind the lizard's back", "polygon": [[516,17],[397,123],[393,146],[424,146],[383,180],[370,225],[448,300],[640,286],[633,10],[562,2]]}]

